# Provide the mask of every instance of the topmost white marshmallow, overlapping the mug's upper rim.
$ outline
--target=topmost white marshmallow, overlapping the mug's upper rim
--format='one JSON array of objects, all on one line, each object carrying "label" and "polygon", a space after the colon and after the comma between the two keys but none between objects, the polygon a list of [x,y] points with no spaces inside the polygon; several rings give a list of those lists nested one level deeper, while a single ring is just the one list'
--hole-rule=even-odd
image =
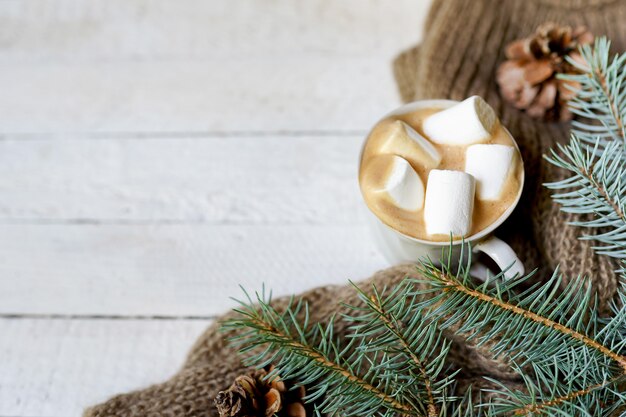
[{"label": "topmost white marshmallow, overlapping the mug's upper rim", "polygon": [[472,96],[426,118],[423,129],[435,143],[469,145],[489,139],[497,120],[485,100]]}]

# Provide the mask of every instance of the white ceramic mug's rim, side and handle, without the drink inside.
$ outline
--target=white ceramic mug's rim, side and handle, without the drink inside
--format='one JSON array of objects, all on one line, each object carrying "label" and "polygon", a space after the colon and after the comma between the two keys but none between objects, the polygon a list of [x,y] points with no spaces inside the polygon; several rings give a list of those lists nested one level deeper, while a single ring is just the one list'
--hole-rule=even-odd
[{"label": "white ceramic mug's rim, side and handle, without the drink inside", "polygon": [[[414,101],[412,103],[405,104],[398,109],[392,111],[385,117],[400,115],[413,112],[422,108],[446,108],[458,103],[452,100],[421,100]],[[506,130],[506,129],[505,129]],[[511,136],[508,130],[506,132]],[[517,148],[517,143],[511,136],[513,144]],[[519,148],[517,148],[519,152]],[[361,149],[361,153],[363,149]],[[361,158],[359,157],[359,161]],[[462,248],[468,248],[470,245],[463,245],[465,243],[471,243],[472,251],[482,252],[489,256],[502,270],[508,268],[504,276],[505,278],[512,278],[515,275],[524,274],[524,265],[519,260],[513,249],[507,245],[501,239],[495,237],[492,232],[500,226],[513,212],[513,209],[517,205],[520,196],[522,194],[522,188],[524,186],[524,170],[522,167],[522,179],[519,192],[515,201],[509,206],[504,213],[491,225],[481,230],[480,232],[465,237],[465,239],[455,240],[452,243],[446,242],[433,242],[429,240],[417,239],[411,236],[407,236],[397,230],[387,226],[383,223],[374,213],[368,210],[369,224],[374,235],[374,240],[383,256],[391,264],[417,262],[421,259],[430,259],[437,263],[445,251],[447,256],[448,248],[452,250],[452,259],[459,259]],[[468,259],[467,254],[463,254],[463,259]],[[472,265],[472,275],[478,278],[485,279],[489,270],[481,264]]]}]

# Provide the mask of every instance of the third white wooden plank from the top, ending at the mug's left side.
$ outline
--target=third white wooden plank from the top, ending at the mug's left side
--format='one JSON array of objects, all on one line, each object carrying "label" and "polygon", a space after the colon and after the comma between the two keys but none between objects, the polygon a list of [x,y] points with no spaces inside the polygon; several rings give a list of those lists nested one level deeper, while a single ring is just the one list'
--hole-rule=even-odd
[{"label": "third white wooden plank from the top, ending at the mug's left side", "polygon": [[354,224],[361,136],[0,141],[0,222]]}]

